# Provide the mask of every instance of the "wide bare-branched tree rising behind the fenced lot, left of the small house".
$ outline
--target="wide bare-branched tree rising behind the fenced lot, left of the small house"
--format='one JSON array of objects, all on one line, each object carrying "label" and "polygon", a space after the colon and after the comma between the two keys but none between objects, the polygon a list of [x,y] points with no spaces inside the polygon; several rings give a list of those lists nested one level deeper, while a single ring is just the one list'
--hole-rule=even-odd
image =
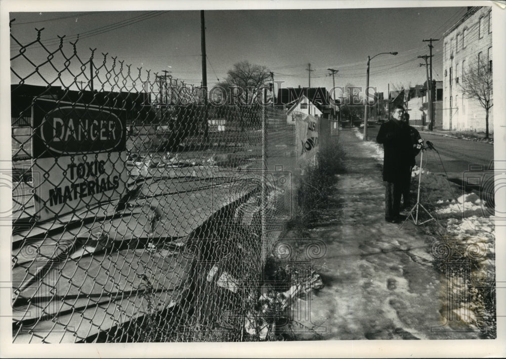
[{"label": "wide bare-branched tree rising behind the fenced lot, left of the small house", "polygon": [[262,87],[269,78],[267,67],[241,61],[227,72],[225,81],[220,82],[219,85],[225,88],[229,94],[230,90],[234,91],[235,96],[241,99],[243,104],[251,104],[261,93]]}]

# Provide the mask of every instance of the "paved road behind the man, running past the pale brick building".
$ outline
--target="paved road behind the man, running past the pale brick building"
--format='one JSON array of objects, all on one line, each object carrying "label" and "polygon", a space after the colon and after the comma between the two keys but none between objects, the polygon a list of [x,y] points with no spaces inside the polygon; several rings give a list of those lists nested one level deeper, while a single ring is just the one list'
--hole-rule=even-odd
[{"label": "paved road behind the man, running past the pale brick building", "polygon": [[[368,138],[374,141],[378,130],[379,125],[373,127],[369,125]],[[442,174],[445,174],[446,170],[448,179],[458,185],[462,184],[462,178],[470,170],[471,165],[474,169],[477,165],[487,170],[494,159],[494,146],[488,143],[438,136],[427,131],[420,132],[420,135],[425,141],[431,141],[441,156],[440,159],[437,152],[426,151],[424,168]],[[420,155],[416,158],[416,163],[419,162]]]}]

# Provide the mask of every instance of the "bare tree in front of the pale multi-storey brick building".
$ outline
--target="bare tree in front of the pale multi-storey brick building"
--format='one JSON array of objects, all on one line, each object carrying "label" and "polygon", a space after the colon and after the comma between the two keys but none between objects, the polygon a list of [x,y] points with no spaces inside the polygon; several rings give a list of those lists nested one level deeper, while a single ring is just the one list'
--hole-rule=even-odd
[{"label": "bare tree in front of the pale multi-storey brick building", "polygon": [[462,94],[468,99],[478,100],[485,109],[485,138],[488,139],[488,115],[490,108],[494,105],[492,88],[492,68],[488,64],[476,63],[462,73],[460,81]]}]

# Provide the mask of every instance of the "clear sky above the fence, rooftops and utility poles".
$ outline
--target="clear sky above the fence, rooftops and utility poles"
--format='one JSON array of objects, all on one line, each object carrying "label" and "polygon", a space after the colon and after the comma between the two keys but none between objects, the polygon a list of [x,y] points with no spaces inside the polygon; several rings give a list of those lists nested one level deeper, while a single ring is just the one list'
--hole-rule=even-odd
[{"label": "clear sky above the fence, rooftops and utility poles", "polygon": [[[433,43],[433,77],[442,80],[443,33],[465,12],[461,6],[207,10],[207,83],[212,86],[223,80],[234,63],[247,60],[265,65],[276,81],[283,81],[283,87],[308,86],[309,63],[312,87],[332,86],[328,68],[339,70],[336,86],[365,86],[367,56],[398,52],[397,56],[379,55],[370,63],[370,86],[386,92],[388,84],[392,90],[426,80],[425,67],[419,66],[423,60],[417,56],[429,54],[423,39],[431,37],[440,39]],[[72,53],[69,41],[80,34],[76,48],[81,59],[88,59],[90,49],[96,49],[95,59],[107,54],[132,68],[167,70],[188,83],[200,84],[198,10],[10,13],[10,19],[14,18],[12,34],[23,44],[36,38],[35,29],[44,28],[41,41],[48,49],[57,49],[57,35],[65,35],[64,49]],[[19,46],[11,41],[11,57],[18,53]],[[32,56],[43,59],[47,54],[34,51]],[[16,60],[12,66],[27,64]],[[16,81],[11,75],[11,82]]]}]

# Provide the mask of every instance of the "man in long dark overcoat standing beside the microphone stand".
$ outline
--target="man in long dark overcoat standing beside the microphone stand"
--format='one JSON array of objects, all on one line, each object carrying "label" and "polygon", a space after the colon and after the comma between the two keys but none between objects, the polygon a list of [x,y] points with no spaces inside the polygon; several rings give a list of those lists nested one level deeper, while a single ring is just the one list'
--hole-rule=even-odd
[{"label": "man in long dark overcoat standing beside the microphone stand", "polygon": [[383,181],[387,182],[385,192],[385,220],[400,222],[401,196],[414,166],[413,144],[409,126],[403,121],[404,107],[397,105],[391,119],[379,127],[376,142],[383,144]]}]

